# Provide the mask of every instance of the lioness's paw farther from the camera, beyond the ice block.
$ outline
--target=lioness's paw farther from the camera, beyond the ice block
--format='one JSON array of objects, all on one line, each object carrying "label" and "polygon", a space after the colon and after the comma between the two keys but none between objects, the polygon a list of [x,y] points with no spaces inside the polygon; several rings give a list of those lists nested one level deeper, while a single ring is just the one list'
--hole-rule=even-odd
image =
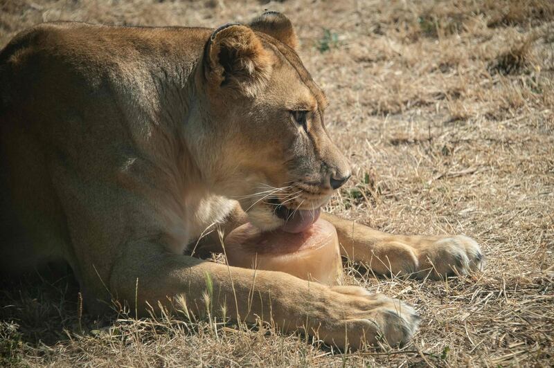
[{"label": "lioness's paw farther from the camera, beyond the ice block", "polygon": [[418,247],[420,278],[441,279],[445,276],[467,275],[482,270],[483,253],[479,244],[469,237],[456,235],[427,241]]}]

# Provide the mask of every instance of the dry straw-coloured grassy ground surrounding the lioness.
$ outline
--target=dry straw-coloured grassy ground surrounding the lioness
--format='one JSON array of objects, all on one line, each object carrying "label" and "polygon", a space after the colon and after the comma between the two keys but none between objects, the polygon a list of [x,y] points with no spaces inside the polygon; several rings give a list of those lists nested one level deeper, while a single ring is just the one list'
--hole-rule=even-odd
[{"label": "dry straw-coloured grassy ground surrounding the lioness", "polygon": [[477,239],[482,273],[420,282],[346,264],[422,316],[402,349],[341,353],[265,326],[82,313],[69,278],[4,280],[0,366],[554,364],[554,3],[549,0],[0,0],[0,46],[58,19],[220,26],[292,19],[354,174],[328,210],[393,233]]}]

